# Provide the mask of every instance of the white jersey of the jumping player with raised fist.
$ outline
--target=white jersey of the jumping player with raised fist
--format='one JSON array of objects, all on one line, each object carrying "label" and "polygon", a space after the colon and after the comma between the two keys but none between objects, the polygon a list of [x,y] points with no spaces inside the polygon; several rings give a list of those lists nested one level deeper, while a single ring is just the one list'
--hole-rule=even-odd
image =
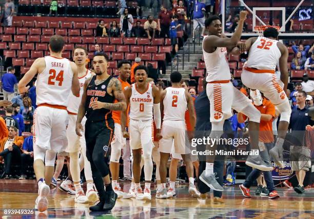
[{"label": "white jersey of the jumping player with raised fist", "polygon": [[[205,36],[203,41],[206,37],[208,36]],[[212,82],[230,80],[231,75],[228,63],[227,48],[217,47],[217,49],[212,53],[205,52],[204,46],[202,46],[202,49],[207,73],[206,81]]]}]

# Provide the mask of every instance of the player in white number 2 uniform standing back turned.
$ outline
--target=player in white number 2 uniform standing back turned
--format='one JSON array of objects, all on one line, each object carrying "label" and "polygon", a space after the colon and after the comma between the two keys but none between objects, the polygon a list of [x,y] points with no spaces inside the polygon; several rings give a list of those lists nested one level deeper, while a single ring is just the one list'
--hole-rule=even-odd
[{"label": "player in white number 2 uniform standing back turned", "polygon": [[[161,135],[163,138],[159,143],[160,151],[160,178],[162,189],[157,191],[156,198],[166,199],[166,177],[167,162],[171,152],[171,145],[174,141],[174,152],[181,154],[185,165],[186,172],[189,177],[189,193],[194,197],[199,197],[199,191],[194,186],[194,169],[191,161],[191,154],[186,142],[188,142],[185,134],[185,111],[189,111],[192,132],[194,131],[196,117],[192,96],[182,87],[182,75],[179,72],[170,74],[171,87],[167,87],[161,94],[161,111],[164,114],[163,127]],[[189,140],[193,138],[192,132],[188,132]],[[172,195],[173,196],[173,195]]]}]

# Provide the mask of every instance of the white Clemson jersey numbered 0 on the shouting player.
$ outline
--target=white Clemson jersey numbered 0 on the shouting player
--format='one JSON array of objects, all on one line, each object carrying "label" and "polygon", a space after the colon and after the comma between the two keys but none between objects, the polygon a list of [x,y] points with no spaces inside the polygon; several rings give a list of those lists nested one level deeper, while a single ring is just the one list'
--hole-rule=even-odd
[{"label": "white Clemson jersey numbered 0 on the shouting player", "polygon": [[132,95],[130,97],[130,119],[150,120],[153,118],[154,98],[152,96],[152,85],[147,83],[147,90],[142,94],[133,83]]}]

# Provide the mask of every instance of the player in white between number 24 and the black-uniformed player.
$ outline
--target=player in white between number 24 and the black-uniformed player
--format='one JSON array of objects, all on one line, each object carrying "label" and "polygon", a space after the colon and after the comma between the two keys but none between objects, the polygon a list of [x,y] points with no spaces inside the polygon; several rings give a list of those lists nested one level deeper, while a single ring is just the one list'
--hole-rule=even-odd
[{"label": "player in white between number 24 and the black-uniformed player", "polygon": [[[75,126],[76,126],[76,117],[78,112],[78,107],[80,106],[82,95],[83,95],[83,85],[85,83],[85,80],[87,78],[91,77],[91,71],[86,69],[86,59],[87,59],[87,51],[83,47],[75,47],[73,50],[73,60],[77,66],[77,72],[78,72],[78,81],[80,82],[80,97],[75,97],[74,95],[69,95],[69,103],[68,103],[68,114],[69,114],[69,125],[67,127],[67,138],[68,138],[68,146],[66,148],[66,152],[69,152],[70,156],[70,172],[71,177],[74,183],[75,188],[75,199],[74,202],[77,203],[86,203],[88,201],[94,202],[97,199],[97,194],[93,188],[93,178],[92,178],[92,172],[90,163],[87,160],[86,157],[86,142],[85,142],[85,136],[82,135],[82,137],[77,136],[75,133]],[[82,125],[85,127],[86,117],[82,120]],[[84,129],[83,129],[84,132]],[[87,191],[86,196],[84,194],[84,191],[81,187],[80,183],[80,164],[78,157],[83,156],[84,159],[84,173],[85,178],[87,182]],[[64,181],[59,188],[65,184],[66,181]]]}]

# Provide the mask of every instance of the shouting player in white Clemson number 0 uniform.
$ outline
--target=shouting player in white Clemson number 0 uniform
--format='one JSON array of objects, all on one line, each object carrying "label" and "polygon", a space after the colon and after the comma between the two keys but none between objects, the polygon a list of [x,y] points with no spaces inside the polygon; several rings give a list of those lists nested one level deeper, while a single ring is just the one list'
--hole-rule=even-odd
[{"label": "shouting player in white Clemson number 0 uniform", "polygon": [[[151,159],[153,148],[153,118],[156,124],[156,138],[160,139],[160,91],[147,82],[147,68],[139,65],[134,69],[135,83],[125,92],[127,105],[130,103],[129,134],[125,131],[127,112],[121,114],[123,137],[130,138],[133,154],[133,178],[137,200],[151,200],[150,182],[153,171]],[[142,148],[144,158],[145,188],[144,194],[140,184]]]}]

